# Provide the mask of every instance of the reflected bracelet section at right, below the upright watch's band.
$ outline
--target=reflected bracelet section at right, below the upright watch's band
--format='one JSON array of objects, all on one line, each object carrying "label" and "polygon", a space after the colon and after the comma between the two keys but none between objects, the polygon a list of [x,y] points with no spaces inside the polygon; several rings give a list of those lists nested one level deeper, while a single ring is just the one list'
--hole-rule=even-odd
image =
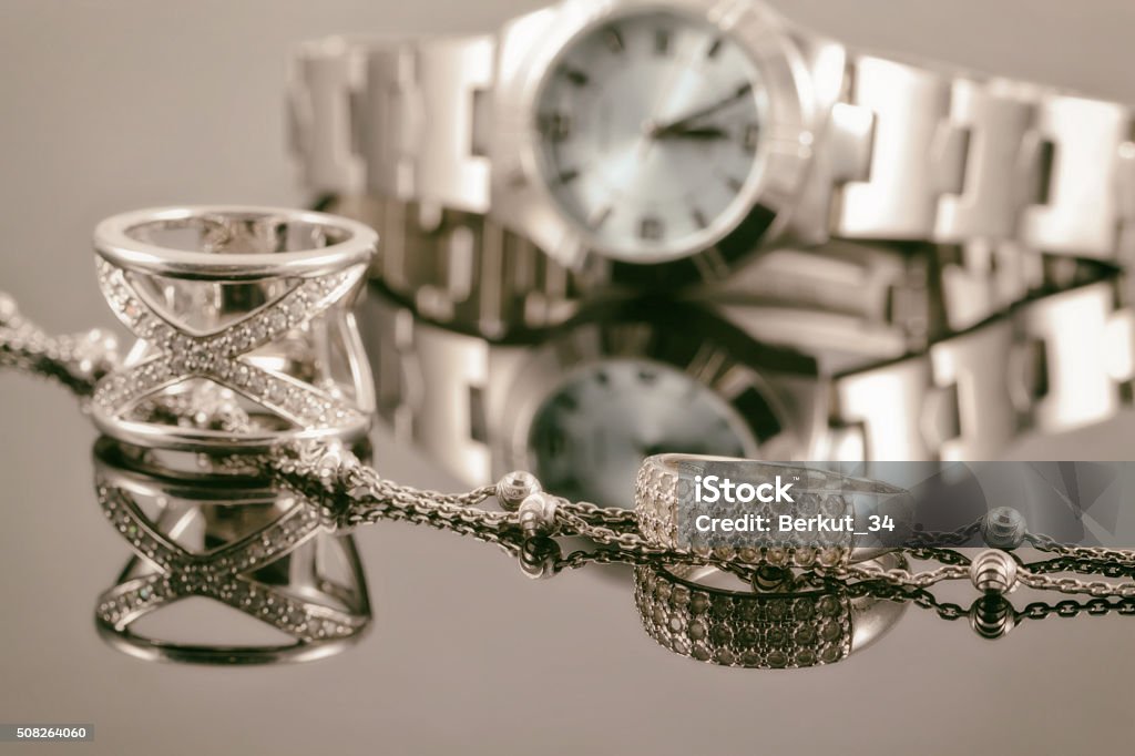
[{"label": "reflected bracelet section at right, below the upright watch's band", "polygon": [[997,459],[1024,432],[1115,415],[1135,378],[1121,284],[1111,271],[1025,301],[925,354],[836,377],[838,459]]}]

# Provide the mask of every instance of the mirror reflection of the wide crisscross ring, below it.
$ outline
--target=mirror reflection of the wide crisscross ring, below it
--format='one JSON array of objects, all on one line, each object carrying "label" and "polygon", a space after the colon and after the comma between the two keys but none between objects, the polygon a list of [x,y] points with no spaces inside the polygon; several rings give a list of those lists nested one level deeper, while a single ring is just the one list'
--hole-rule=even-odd
[{"label": "mirror reflection of the wide crisscross ring, below it", "polygon": [[[119,650],[207,664],[306,661],[344,649],[369,625],[354,543],[326,532],[306,501],[264,481],[155,477],[107,438],[95,445],[95,462],[99,503],[136,553],[95,612],[100,635]],[[148,516],[142,503],[158,513]],[[132,629],[190,597],[217,600],[294,641],[203,645]]]}]

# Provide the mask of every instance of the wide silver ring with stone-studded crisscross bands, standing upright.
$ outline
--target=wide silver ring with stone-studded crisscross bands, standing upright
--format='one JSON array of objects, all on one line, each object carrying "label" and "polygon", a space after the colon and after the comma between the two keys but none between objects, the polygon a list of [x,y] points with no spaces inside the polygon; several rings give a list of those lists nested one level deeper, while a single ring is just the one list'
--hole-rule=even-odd
[{"label": "wide silver ring with stone-studded crisscross bands, standing upright", "polygon": [[297,210],[169,208],[109,218],[94,242],[103,295],[138,337],[95,387],[104,432],[199,451],[367,432],[373,387],[351,308],[371,229]]}]

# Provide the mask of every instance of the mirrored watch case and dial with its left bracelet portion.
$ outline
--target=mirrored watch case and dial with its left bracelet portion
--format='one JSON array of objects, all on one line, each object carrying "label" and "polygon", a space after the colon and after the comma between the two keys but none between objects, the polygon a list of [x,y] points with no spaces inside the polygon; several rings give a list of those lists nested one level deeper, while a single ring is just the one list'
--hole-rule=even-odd
[{"label": "mirrored watch case and dial with its left bracelet portion", "polygon": [[813,359],[688,304],[592,313],[536,345],[369,306],[379,412],[465,481],[528,469],[556,494],[617,501],[653,453],[781,457],[810,450],[823,417]]}]

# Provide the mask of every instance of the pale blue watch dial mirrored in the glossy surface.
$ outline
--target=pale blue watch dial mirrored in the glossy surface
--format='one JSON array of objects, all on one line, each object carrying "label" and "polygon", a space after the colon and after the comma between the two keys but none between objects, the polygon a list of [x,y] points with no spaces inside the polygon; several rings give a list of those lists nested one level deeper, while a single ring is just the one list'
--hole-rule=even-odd
[{"label": "pale blue watch dial mirrored in the glossy surface", "polygon": [[612,360],[573,373],[537,410],[529,451],[544,487],[606,506],[633,506],[639,464],[683,452],[750,456],[756,440],[730,404],[687,373]]}]

